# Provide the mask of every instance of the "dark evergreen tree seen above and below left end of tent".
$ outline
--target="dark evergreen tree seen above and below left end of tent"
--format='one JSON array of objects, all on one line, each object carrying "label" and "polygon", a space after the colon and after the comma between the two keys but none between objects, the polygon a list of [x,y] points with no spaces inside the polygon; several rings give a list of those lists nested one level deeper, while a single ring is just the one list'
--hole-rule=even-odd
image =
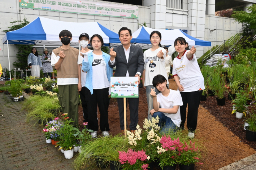
[{"label": "dark evergreen tree seen above and below left end of tent", "polygon": [[[20,24],[13,24],[13,23],[17,23],[17,22],[20,22]],[[25,27],[27,24],[29,24],[29,21],[27,21],[27,19],[24,18],[23,21],[13,21],[13,22],[10,22],[10,23],[11,23],[11,26],[8,27],[10,29],[9,30],[4,30],[5,33],[9,32],[9,31],[18,30],[22,27]],[[18,48],[18,53],[16,54],[18,62],[14,62],[13,66],[15,66],[17,68],[21,68],[22,70],[24,70],[27,67],[27,57],[31,53],[31,48],[34,45],[15,44],[15,46]]]}]

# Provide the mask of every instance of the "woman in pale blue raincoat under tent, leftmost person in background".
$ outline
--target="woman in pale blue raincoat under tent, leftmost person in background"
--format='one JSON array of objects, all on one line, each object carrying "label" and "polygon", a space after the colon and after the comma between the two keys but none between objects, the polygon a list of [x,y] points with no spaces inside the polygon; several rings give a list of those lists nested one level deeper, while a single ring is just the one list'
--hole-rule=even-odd
[{"label": "woman in pale blue raincoat under tent, leftmost person in background", "polygon": [[33,77],[40,77],[40,69],[43,68],[43,65],[35,47],[31,49],[31,53],[27,57],[27,65],[31,68],[31,75]]}]

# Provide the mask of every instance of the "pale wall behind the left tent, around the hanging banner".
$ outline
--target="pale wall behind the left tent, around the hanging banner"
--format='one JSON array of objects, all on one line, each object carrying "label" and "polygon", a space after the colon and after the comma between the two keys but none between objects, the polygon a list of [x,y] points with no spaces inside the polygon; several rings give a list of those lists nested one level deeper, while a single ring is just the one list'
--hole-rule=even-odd
[{"label": "pale wall behind the left tent, around the hanging banner", "polygon": [[[110,3],[110,4],[130,5],[130,4],[113,3],[113,2],[99,1],[99,0],[90,0],[90,1],[97,1],[97,2]],[[136,5],[131,5],[131,6],[136,6]],[[5,35],[5,32],[3,32],[3,30],[8,30],[9,29],[8,27],[10,27],[9,22],[22,20],[25,17],[29,22],[31,22],[38,16],[49,18],[49,19],[55,19],[58,21],[66,21],[66,22],[99,22],[104,27],[116,33],[118,33],[121,27],[128,27],[131,29],[132,32],[134,32],[138,30],[139,27],[141,27],[139,23],[143,25],[144,22],[146,22],[147,27],[151,27],[150,7],[148,6],[139,6],[139,19],[132,19],[132,18],[104,17],[104,16],[97,16],[97,15],[85,15],[85,14],[74,14],[74,13],[19,8],[18,0],[8,0],[8,1],[1,2],[1,8],[0,8],[1,42],[3,40],[3,36]],[[1,44],[0,47],[1,47],[0,63],[2,67],[9,68],[7,44],[5,45]],[[9,44],[11,69],[14,68],[12,63],[17,60],[16,58],[17,51],[18,49],[15,47],[15,45]],[[4,53],[4,57],[3,57],[3,53]]]}]

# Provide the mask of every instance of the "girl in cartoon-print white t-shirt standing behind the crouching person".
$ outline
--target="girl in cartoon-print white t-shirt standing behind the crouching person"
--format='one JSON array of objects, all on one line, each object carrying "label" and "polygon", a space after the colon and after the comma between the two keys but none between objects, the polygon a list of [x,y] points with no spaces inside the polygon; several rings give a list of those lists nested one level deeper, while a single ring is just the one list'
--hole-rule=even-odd
[{"label": "girl in cartoon-print white t-shirt standing behind the crouching person", "polygon": [[[159,31],[151,32],[149,40],[151,41],[152,48],[144,52],[144,71],[142,74],[142,85],[146,89],[147,102],[148,102],[148,120],[151,120],[152,115],[150,112],[153,110],[153,98],[150,95],[151,89],[153,89],[153,78],[156,75],[163,75],[166,80],[168,77],[165,71],[165,56],[166,50],[161,48],[161,33]],[[169,85],[169,82],[167,82]],[[156,94],[159,91],[156,89]]]}]

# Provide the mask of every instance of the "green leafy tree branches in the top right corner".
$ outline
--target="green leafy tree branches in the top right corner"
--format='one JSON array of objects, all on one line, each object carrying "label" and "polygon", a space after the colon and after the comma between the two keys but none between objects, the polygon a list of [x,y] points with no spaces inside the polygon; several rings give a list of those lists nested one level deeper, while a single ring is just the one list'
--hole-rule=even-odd
[{"label": "green leafy tree branches in the top right corner", "polygon": [[251,29],[256,29],[256,4],[248,7],[248,12],[246,11],[235,11],[231,15],[235,21],[239,23],[246,23],[250,25]]}]

